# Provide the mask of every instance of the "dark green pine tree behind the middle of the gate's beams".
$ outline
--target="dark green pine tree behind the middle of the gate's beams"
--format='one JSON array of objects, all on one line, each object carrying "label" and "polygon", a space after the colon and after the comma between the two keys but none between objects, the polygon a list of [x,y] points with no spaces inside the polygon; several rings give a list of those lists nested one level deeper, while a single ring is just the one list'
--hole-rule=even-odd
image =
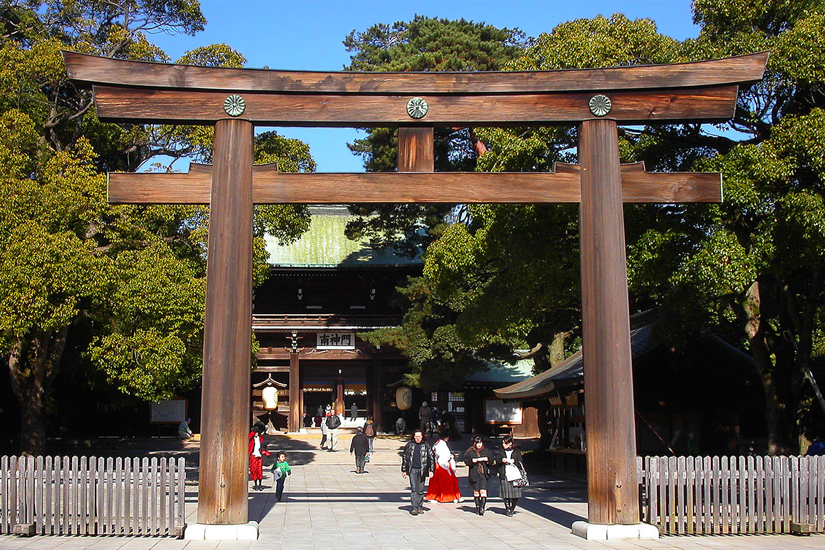
[{"label": "dark green pine tree behind the middle of the gate's beams", "polygon": [[[498,29],[464,19],[415,16],[412,21],[352,31],[344,45],[352,52],[347,71],[493,71],[516,59],[529,40],[517,29]],[[396,129],[369,129],[349,145],[364,158],[367,172],[393,172],[398,160]],[[436,129],[439,172],[472,172],[483,143],[471,128]],[[370,237],[375,247],[395,247],[414,256],[443,227],[450,205],[381,204],[351,207],[359,217],[347,236]],[[428,231],[422,231],[427,228]]]}]

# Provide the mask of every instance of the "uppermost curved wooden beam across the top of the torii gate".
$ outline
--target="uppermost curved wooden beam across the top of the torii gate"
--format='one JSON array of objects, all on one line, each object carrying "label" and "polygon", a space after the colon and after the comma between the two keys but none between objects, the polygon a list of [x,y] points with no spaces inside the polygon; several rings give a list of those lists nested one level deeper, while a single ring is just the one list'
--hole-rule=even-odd
[{"label": "uppermost curved wooden beam across the top of the torii gate", "polygon": [[68,77],[91,85],[166,90],[358,95],[608,92],[748,84],[761,80],[768,53],[712,61],[558,71],[320,73],[147,63],[64,51]]}]

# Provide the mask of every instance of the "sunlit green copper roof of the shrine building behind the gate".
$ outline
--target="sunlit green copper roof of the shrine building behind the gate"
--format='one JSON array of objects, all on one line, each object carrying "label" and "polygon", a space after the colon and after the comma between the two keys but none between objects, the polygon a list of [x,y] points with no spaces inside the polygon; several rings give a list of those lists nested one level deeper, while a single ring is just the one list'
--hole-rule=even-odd
[{"label": "sunlit green copper roof of the shrine building behind the gate", "polygon": [[387,249],[377,251],[367,239],[351,241],[344,235],[347,222],[354,219],[346,207],[317,206],[310,209],[309,231],[296,242],[281,246],[266,236],[269,263],[277,267],[356,267],[408,266],[421,264],[421,258],[398,256]]}]

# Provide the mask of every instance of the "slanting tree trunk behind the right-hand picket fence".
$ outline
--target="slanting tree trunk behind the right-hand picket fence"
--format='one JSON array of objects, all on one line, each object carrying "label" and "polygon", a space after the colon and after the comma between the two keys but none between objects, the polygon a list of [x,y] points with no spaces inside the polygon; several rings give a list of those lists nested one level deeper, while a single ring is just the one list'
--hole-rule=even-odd
[{"label": "slanting tree trunk behind the right-hand picket fence", "polygon": [[753,362],[765,392],[765,422],[768,432],[768,454],[788,454],[793,431],[792,414],[788,402],[778,387],[777,369],[771,360],[766,341],[765,322],[761,318],[761,289],[759,281],[745,292],[742,303],[747,315],[745,332],[751,346]]}]

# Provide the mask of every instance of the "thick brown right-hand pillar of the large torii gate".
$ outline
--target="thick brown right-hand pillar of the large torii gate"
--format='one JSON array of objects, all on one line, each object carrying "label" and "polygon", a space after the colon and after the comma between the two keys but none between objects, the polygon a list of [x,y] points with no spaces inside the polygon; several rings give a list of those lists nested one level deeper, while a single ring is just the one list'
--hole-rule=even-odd
[{"label": "thick brown right-hand pillar of the large torii gate", "polygon": [[615,120],[579,127],[587,506],[591,524],[638,524],[636,430]]}]

